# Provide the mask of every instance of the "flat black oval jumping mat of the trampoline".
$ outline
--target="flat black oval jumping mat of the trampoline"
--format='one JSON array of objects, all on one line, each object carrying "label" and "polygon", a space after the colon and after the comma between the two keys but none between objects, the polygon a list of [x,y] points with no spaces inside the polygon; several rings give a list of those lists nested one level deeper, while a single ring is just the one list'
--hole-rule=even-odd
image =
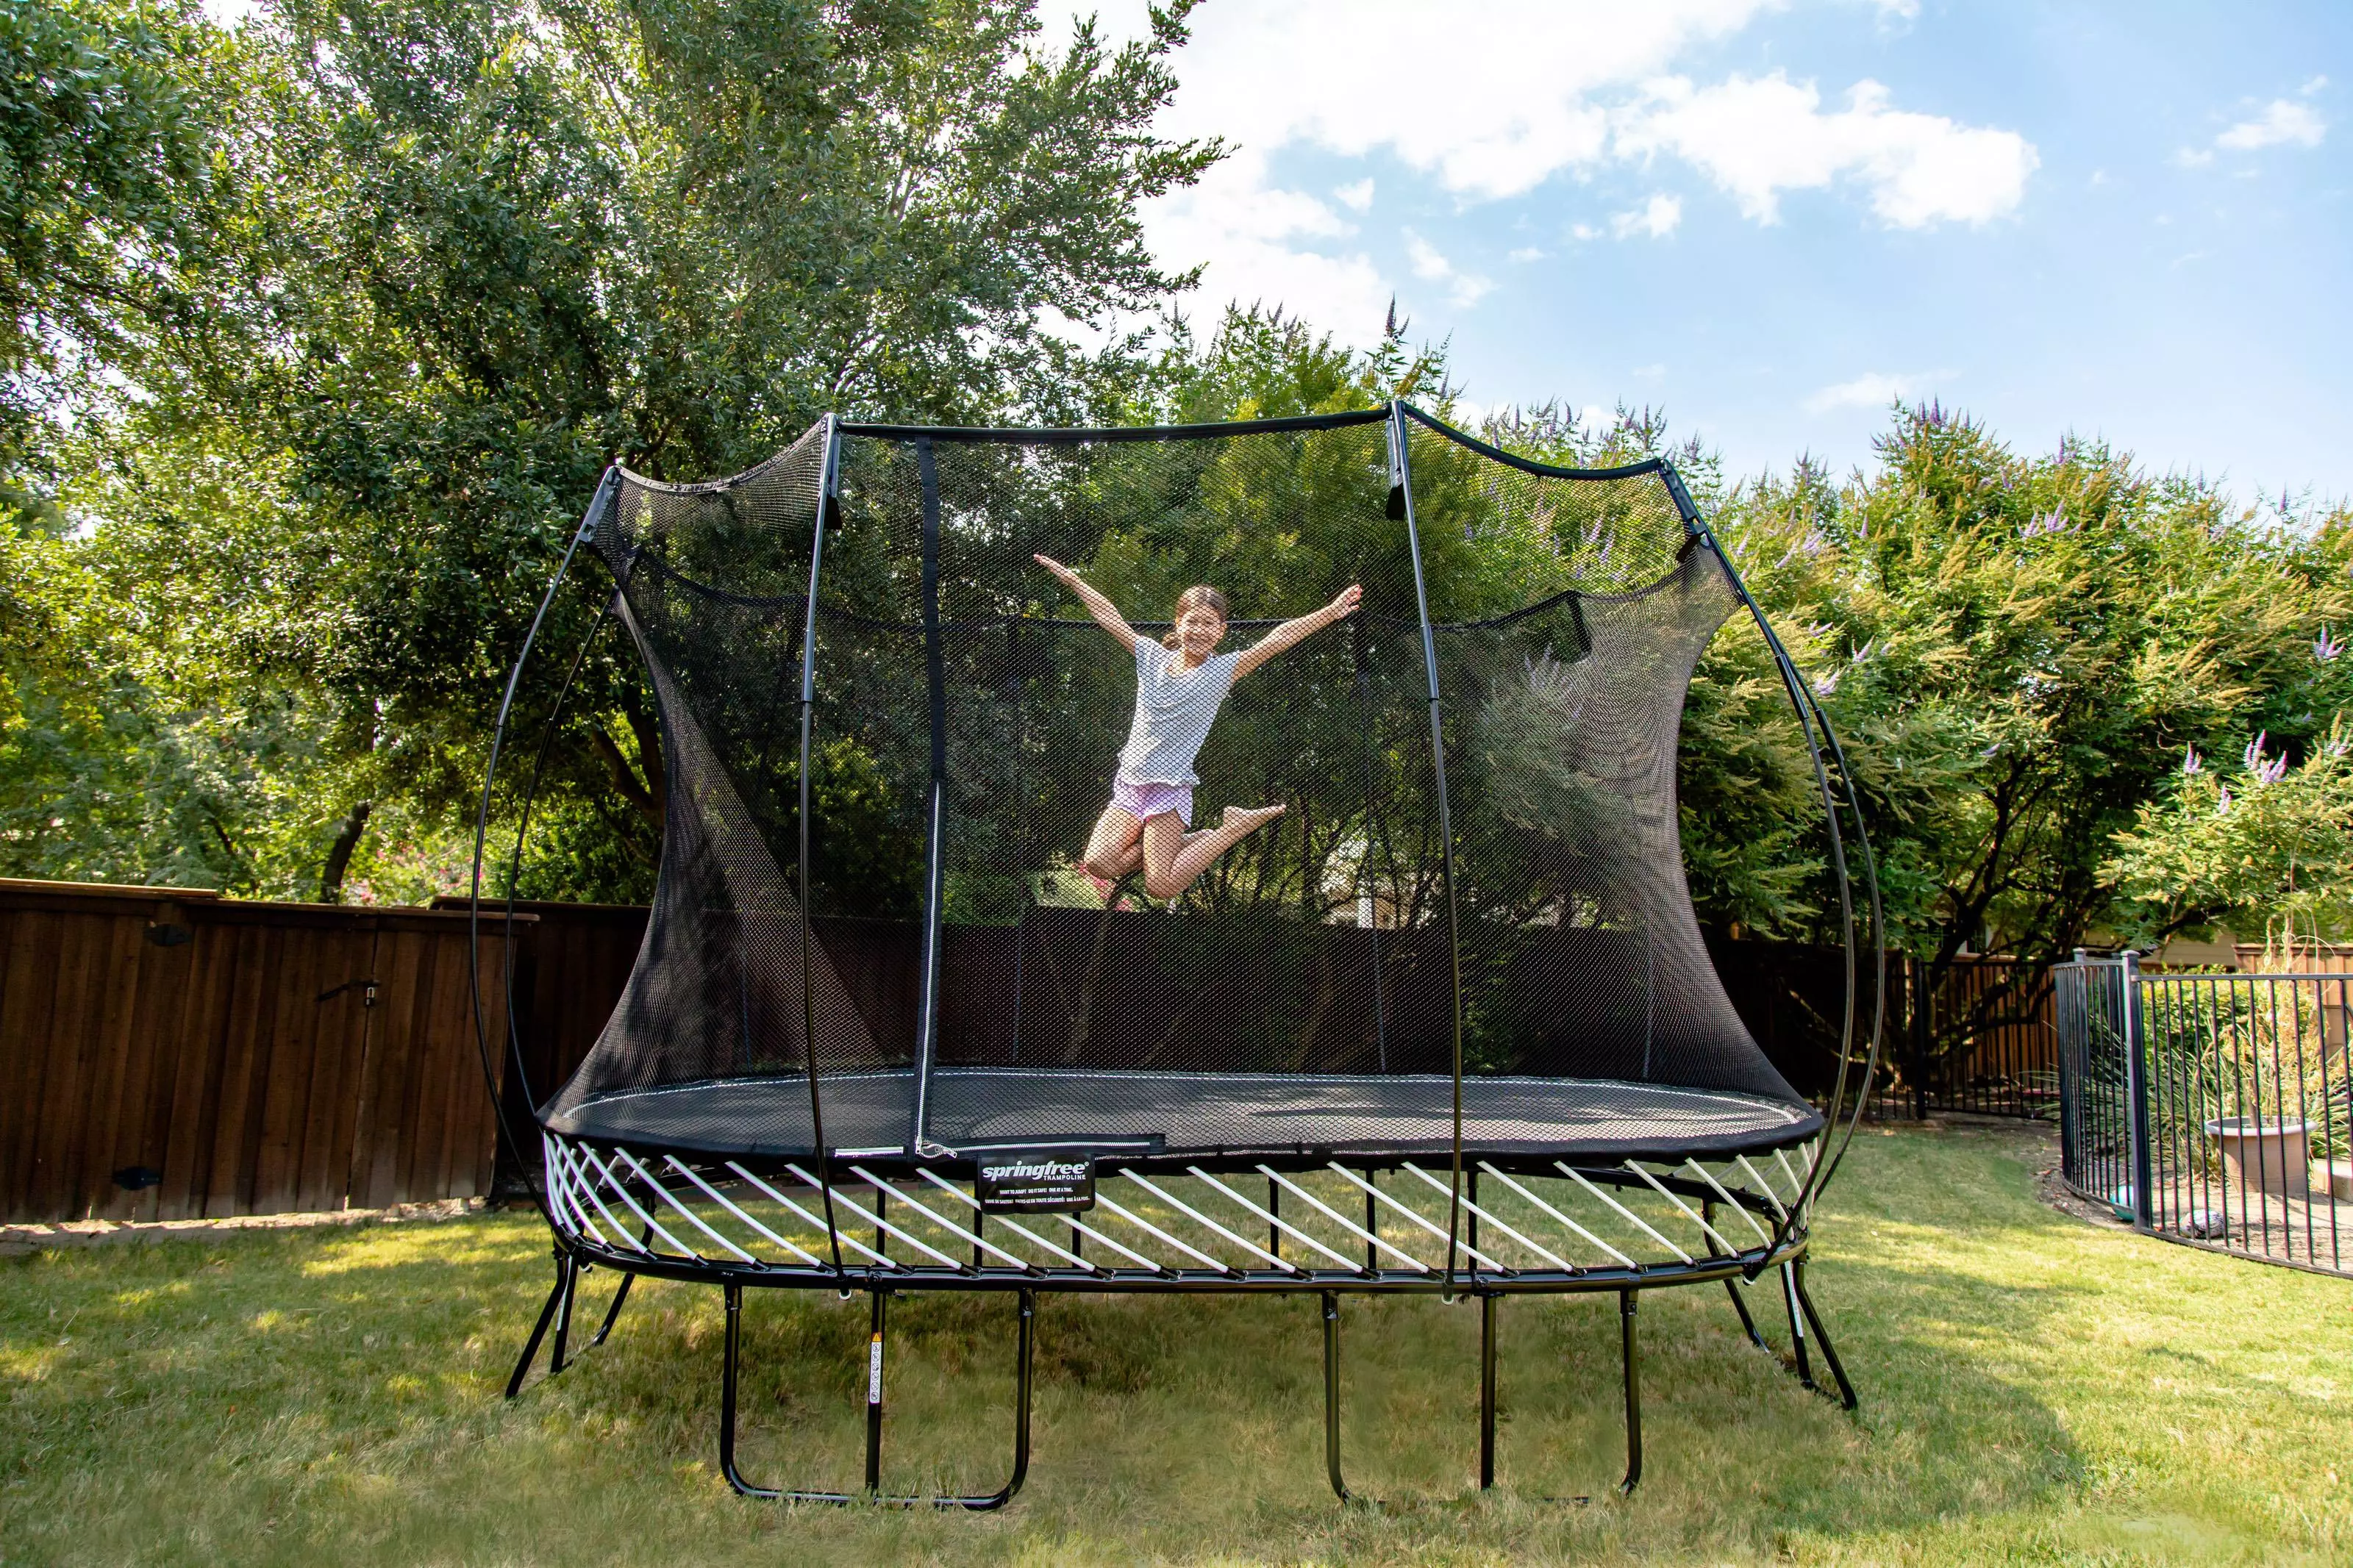
[{"label": "flat black oval jumping mat of the trampoline", "polygon": [[[1259,1072],[941,1067],[929,1138],[951,1150],[1092,1145],[1144,1157],[1431,1154],[1454,1145],[1452,1079]],[[913,1072],[821,1081],[835,1154],[906,1147]],[[591,1143],[699,1154],[812,1154],[809,1081],[722,1079],[598,1095],[548,1117]],[[1729,1157],[1812,1138],[1812,1107],[1614,1079],[1466,1077],[1464,1150],[1548,1157]]]}]

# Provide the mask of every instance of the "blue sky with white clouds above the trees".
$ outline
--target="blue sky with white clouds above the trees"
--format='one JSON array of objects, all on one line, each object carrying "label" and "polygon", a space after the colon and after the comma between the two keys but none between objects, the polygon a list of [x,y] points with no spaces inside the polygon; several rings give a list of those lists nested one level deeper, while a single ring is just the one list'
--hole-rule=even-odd
[{"label": "blue sky with white clouds above the trees", "polygon": [[[1061,33],[1141,2],[1047,5]],[[1151,214],[1207,313],[1391,294],[1473,404],[1664,407],[1734,473],[1887,400],[2353,498],[2353,5],[1209,0]]]}]

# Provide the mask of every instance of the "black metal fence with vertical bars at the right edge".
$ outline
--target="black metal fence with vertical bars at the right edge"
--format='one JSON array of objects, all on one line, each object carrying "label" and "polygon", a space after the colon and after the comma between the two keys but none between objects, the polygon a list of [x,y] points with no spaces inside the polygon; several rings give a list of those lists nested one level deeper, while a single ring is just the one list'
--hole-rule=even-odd
[{"label": "black metal fence with vertical bars at the right edge", "polygon": [[2353,976],[2052,971],[2061,1171],[2172,1241],[2353,1274]]}]

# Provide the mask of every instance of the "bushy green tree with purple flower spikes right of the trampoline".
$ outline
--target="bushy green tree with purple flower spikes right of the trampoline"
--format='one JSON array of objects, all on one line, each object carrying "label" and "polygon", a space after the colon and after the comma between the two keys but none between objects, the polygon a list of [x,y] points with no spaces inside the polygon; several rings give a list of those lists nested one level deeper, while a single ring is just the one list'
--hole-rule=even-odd
[{"label": "bushy green tree with purple flower spikes right of the trampoline", "polygon": [[1845,736],[1901,945],[1939,966],[2087,940],[2111,839],[2184,745],[2327,729],[2308,642],[2348,609],[2337,534],[2106,447],[2024,458],[1899,409],[1878,473],[1800,465],[1722,515]]}]

